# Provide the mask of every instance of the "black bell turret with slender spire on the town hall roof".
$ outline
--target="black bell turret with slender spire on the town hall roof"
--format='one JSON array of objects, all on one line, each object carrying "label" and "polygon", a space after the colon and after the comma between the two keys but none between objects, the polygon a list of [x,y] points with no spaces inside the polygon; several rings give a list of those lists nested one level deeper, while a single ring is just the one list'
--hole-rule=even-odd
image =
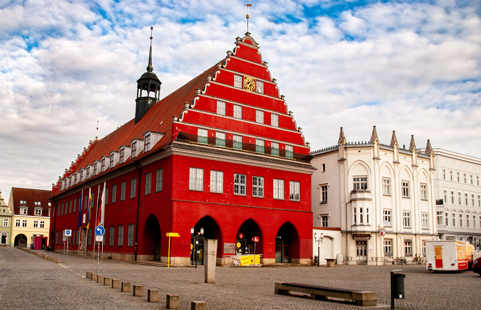
[{"label": "black bell turret with slender spire on the town hall roof", "polygon": [[137,99],[135,100],[135,123],[149,111],[149,109],[159,101],[160,85],[162,82],[153,73],[152,67],[152,30],[151,27],[151,47],[149,52],[149,65],[147,65],[147,72],[137,80]]}]

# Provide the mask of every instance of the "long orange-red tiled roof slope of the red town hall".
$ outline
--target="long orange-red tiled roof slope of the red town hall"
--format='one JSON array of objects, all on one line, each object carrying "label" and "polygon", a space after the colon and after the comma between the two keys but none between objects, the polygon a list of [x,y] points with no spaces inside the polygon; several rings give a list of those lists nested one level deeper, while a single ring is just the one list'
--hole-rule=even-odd
[{"label": "long orange-red tiled roof slope of the red town hall", "polygon": [[[219,63],[222,63],[223,61],[224,59]],[[172,141],[172,117],[180,116],[185,108],[185,103],[192,103],[192,100],[197,94],[197,89],[202,90],[203,86],[208,81],[208,76],[214,76],[216,70],[217,64],[205,70],[202,74],[196,78],[193,78],[187,84],[172,92],[161,101],[152,105],[149,111],[139,120],[137,124],[134,124],[134,118],[132,118],[126,124],[114,130],[106,137],[102,138],[101,140],[94,141],[93,144],[89,145],[87,148],[88,152],[82,153],[81,156],[83,156],[83,158],[77,159],[75,162],[76,166],[72,165],[63,175],[63,177],[73,174],[76,171],[80,171],[81,168],[86,168],[87,165],[93,164],[95,160],[101,160],[101,157],[104,155],[109,156],[110,152],[118,151],[119,147],[122,145],[130,146],[132,139],[143,139],[144,133],[149,130],[165,132],[165,135],[162,137],[162,139],[152,147],[151,152],[163,148]],[[133,100],[132,104],[135,104]],[[143,157],[143,155],[143,151],[140,152],[140,154],[135,157],[135,160]],[[122,165],[117,164],[115,168],[124,166],[131,162],[132,159],[128,158]],[[110,169],[106,169],[106,171],[103,173],[107,173],[109,170]],[[96,177],[100,174],[102,173],[97,174]],[[85,181],[81,183],[84,182]],[[79,184],[80,183],[77,183],[75,186],[78,186]],[[56,186],[60,186],[60,182],[57,182]],[[60,193],[57,188],[53,188],[52,192],[53,196],[56,196]]]}]

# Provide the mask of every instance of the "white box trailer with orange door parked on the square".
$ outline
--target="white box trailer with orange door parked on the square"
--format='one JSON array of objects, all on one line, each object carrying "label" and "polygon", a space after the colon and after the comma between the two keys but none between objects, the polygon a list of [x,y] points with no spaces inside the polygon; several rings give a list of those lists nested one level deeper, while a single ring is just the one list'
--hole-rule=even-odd
[{"label": "white box trailer with orange door parked on the square", "polygon": [[426,241],[426,268],[429,271],[468,269],[467,244],[456,240]]}]

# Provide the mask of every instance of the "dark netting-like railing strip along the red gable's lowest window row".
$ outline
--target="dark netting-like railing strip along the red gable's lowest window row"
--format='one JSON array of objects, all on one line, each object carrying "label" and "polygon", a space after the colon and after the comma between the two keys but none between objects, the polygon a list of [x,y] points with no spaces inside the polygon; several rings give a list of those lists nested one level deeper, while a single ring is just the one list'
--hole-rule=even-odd
[{"label": "dark netting-like railing strip along the red gable's lowest window row", "polygon": [[304,163],[310,163],[312,155],[305,155],[300,153],[289,152],[286,150],[279,150],[277,148],[268,146],[259,146],[252,143],[237,142],[233,140],[223,140],[216,137],[202,137],[187,132],[179,132],[176,141],[192,142],[199,144],[207,144],[227,149],[240,150],[244,152],[251,152],[257,154],[271,155],[280,158],[290,158]]}]

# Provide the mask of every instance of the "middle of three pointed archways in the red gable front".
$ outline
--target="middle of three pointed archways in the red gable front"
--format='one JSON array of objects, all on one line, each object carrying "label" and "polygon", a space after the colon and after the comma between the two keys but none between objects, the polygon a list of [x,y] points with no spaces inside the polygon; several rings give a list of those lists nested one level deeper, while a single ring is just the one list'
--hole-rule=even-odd
[{"label": "middle of three pointed archways in the red gable front", "polygon": [[[253,242],[253,237],[258,237],[259,242]],[[264,238],[259,225],[257,225],[257,223],[252,219],[246,220],[242,223],[241,227],[239,227],[239,230],[237,231],[236,238],[237,255],[254,254],[254,249],[255,254],[263,254]]]}]

